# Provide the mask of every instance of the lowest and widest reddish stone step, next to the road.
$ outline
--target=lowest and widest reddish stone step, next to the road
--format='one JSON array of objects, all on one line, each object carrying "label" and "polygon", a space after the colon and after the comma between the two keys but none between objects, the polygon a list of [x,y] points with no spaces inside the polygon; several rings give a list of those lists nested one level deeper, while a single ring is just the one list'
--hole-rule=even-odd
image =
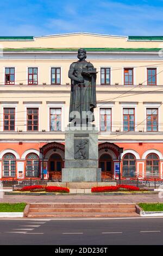
[{"label": "lowest and widest reddish stone step, next to the road", "polygon": [[28,218],[103,218],[103,217],[139,217],[136,212],[30,212]]}]

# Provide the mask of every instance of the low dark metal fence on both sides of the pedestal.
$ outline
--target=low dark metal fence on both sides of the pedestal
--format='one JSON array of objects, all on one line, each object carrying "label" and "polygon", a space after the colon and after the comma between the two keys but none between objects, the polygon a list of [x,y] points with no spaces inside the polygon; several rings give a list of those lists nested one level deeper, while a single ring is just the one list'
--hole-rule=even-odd
[{"label": "low dark metal fence on both sides of the pedestal", "polygon": [[[45,180],[45,179],[4,179],[0,181],[0,187],[24,187],[24,186],[33,186],[33,185],[47,185],[47,182],[60,182],[61,180]],[[136,187],[151,187],[156,188],[162,186],[163,180],[158,179],[135,179],[135,180],[114,180],[114,179],[103,179],[103,182],[116,182],[120,185],[131,185]],[[98,185],[98,182],[97,182]]]}]

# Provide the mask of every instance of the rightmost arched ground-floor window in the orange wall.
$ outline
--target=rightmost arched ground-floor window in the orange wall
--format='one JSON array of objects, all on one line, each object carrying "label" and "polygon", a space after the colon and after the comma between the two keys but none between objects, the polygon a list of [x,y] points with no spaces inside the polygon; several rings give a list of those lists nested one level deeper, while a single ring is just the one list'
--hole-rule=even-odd
[{"label": "rightmost arched ground-floor window in the orange wall", "polygon": [[156,154],[149,154],[146,158],[146,176],[159,176],[159,157]]}]

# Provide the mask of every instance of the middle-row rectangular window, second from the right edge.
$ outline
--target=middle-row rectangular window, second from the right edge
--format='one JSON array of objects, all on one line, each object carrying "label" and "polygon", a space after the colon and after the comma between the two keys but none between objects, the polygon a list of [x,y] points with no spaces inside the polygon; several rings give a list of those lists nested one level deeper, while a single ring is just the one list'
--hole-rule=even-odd
[{"label": "middle-row rectangular window, second from the right edge", "polygon": [[123,131],[135,131],[134,108],[123,108]]}]

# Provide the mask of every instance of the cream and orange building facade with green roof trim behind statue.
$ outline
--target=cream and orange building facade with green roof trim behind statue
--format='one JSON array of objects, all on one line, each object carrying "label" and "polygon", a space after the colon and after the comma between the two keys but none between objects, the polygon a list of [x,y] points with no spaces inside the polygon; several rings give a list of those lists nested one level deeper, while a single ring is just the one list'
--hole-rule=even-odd
[{"label": "cream and orange building facade with green roof trim behind statue", "polygon": [[98,71],[102,178],[162,179],[162,46],[163,36],[0,36],[0,179],[40,178],[43,160],[44,178],[61,180],[68,70],[80,47]]}]

